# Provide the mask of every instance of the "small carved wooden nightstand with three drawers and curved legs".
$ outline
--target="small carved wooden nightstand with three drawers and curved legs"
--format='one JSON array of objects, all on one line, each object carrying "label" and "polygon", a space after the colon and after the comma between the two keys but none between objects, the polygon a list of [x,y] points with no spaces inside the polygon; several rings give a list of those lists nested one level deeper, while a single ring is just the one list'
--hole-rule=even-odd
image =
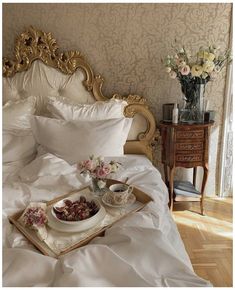
[{"label": "small carved wooden nightstand with three drawers and curved legs", "polygon": [[[162,137],[162,163],[165,182],[169,188],[169,206],[173,209],[174,172],[176,167],[193,168],[193,185],[196,185],[197,166],[204,169],[201,195],[199,196],[203,215],[204,190],[208,177],[209,128],[214,122],[205,124],[172,124],[160,122]],[[169,168],[169,172],[168,172]],[[187,201],[190,201],[189,198]],[[195,201],[195,199],[192,201]]]}]

